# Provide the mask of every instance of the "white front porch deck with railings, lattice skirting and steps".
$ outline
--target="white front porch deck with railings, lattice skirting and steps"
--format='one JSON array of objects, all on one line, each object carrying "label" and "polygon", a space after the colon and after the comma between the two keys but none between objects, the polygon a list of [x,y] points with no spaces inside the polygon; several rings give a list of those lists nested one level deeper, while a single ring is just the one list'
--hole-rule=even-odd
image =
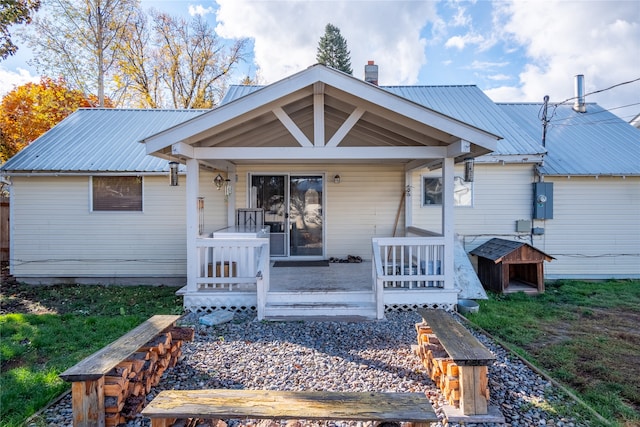
[{"label": "white front porch deck with railings, lattice skirting and steps", "polygon": [[[185,308],[256,311],[259,320],[382,319],[386,311],[453,309],[441,237],[373,238],[361,263],[275,267],[268,238],[198,239],[199,277],[180,291]],[[448,284],[448,285],[447,285]]]}]

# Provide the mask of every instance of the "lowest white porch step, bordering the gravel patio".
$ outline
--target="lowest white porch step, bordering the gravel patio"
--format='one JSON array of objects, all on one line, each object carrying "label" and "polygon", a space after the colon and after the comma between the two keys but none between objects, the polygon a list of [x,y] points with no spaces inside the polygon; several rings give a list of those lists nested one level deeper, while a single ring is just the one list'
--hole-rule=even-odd
[{"label": "lowest white porch step, bordering the gravel patio", "polygon": [[376,306],[373,302],[267,302],[264,318],[265,320],[375,320]]}]

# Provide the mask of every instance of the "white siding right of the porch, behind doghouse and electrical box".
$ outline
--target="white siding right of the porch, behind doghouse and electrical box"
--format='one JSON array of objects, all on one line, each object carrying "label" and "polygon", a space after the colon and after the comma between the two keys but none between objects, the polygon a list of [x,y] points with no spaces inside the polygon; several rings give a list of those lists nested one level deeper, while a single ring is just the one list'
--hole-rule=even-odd
[{"label": "white siding right of the porch, behind doghouse and electrical box", "polygon": [[[413,176],[418,194],[420,176],[418,172]],[[516,221],[532,218],[533,167],[476,164],[473,207],[454,209],[456,233],[465,250],[493,237],[522,239],[556,258],[545,263],[547,278],[640,277],[640,178],[546,177],[545,181],[554,183],[553,219],[532,222],[544,229],[543,235],[517,233]],[[415,226],[440,231],[439,207],[421,207],[414,197],[413,209]]]}]

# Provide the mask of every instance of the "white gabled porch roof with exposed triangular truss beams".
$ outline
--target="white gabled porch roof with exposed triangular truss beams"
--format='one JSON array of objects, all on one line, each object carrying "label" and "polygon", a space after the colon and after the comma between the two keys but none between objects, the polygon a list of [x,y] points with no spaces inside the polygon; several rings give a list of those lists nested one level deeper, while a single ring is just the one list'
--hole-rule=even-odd
[{"label": "white gabled porch roof with exposed triangular truss beams", "polygon": [[[314,65],[143,140],[148,154],[214,168],[258,162],[402,162],[496,149],[499,136]],[[222,161],[222,162],[221,162]],[[226,163],[226,162],[230,162]]]}]

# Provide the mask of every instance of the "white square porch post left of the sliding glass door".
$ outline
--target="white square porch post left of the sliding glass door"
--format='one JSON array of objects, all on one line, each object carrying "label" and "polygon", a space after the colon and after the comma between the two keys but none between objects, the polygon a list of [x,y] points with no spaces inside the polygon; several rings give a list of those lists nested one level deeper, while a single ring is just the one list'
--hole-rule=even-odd
[{"label": "white square porch post left of the sliding glass door", "polygon": [[187,290],[197,290],[198,254],[198,194],[200,192],[200,163],[197,159],[187,159]]}]

